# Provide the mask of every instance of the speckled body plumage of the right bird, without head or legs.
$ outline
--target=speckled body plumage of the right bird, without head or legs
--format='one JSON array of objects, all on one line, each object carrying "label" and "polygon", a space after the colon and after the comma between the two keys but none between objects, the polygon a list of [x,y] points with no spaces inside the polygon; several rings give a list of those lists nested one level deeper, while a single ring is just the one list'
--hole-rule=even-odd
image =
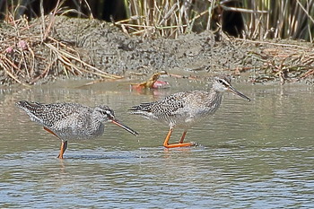
[{"label": "speckled body plumage of the right bird, without head or legs", "polygon": [[[216,93],[214,97],[211,96]],[[208,100],[205,100],[208,98]],[[207,115],[214,114],[222,100],[222,93],[207,91],[183,91],[163,100],[142,103],[133,107],[132,114],[141,115],[169,126],[188,128]]]}]

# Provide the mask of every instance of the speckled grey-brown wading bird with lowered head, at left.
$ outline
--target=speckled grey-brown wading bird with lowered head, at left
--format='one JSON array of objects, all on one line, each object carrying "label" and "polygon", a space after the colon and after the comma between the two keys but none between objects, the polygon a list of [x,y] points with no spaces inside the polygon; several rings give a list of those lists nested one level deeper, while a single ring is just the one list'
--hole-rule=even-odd
[{"label": "speckled grey-brown wading bird with lowered head, at left", "polygon": [[67,148],[68,140],[92,139],[104,132],[104,122],[112,122],[133,135],[137,132],[118,122],[114,111],[100,105],[89,108],[76,103],[42,104],[22,100],[16,106],[23,109],[32,121],[44,126],[44,129],[61,140],[59,159]]}]

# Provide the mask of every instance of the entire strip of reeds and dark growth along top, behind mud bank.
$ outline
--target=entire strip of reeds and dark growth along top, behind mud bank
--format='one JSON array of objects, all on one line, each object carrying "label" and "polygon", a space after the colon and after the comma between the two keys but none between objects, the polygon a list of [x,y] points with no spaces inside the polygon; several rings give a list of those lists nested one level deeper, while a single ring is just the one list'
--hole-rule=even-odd
[{"label": "entire strip of reeds and dark growth along top, behind mud bank", "polygon": [[[0,11],[5,20],[18,20],[43,16],[54,1],[4,1]],[[90,6],[92,5],[92,8]],[[127,20],[114,22],[128,34],[144,37],[171,37],[191,31],[216,30],[233,20],[223,19],[225,13],[240,13],[244,30],[239,31],[247,39],[305,39],[314,40],[314,0],[124,0]],[[71,5],[73,8],[68,8]],[[99,7],[107,6],[101,0],[58,0],[54,15],[76,14],[77,17],[101,18]],[[227,16],[227,15],[226,15]],[[229,27],[229,26],[228,26]],[[231,27],[231,26],[230,26]],[[243,33],[243,34],[241,34]]]}]

